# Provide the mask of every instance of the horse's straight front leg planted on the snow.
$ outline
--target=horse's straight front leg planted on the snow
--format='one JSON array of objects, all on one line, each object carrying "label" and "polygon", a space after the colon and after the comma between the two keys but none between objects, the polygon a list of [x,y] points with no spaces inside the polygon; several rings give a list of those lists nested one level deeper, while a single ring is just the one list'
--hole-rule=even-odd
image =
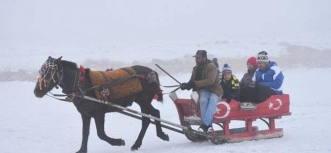
[{"label": "horse's straight front leg planted on the snow", "polygon": [[83,139],[81,149],[76,153],[87,153],[87,140],[89,135],[89,126],[91,123],[91,117],[81,113],[83,121]]}]

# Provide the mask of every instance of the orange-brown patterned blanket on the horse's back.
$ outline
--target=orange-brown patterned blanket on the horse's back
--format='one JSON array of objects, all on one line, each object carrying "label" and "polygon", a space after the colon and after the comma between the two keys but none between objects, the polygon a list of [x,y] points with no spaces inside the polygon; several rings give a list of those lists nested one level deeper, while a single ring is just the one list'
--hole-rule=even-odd
[{"label": "orange-brown patterned blanket on the horse's back", "polygon": [[[90,71],[89,76],[91,78],[92,85],[95,86],[106,83],[108,81],[114,81],[127,76],[131,76],[132,74],[135,74],[135,71],[132,68],[127,67],[113,71]],[[96,98],[104,100],[104,97],[100,94],[102,90],[103,88],[95,89],[94,92]],[[108,100],[123,98],[125,96],[135,94],[141,90],[142,86],[139,78],[132,77],[120,84],[110,86],[110,95],[107,98]]]}]

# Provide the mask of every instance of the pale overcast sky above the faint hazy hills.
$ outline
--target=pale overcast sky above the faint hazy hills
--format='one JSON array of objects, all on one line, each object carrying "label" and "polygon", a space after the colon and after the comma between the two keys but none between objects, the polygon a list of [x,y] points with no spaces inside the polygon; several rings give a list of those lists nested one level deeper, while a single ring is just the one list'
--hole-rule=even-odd
[{"label": "pale overcast sky above the faint hazy hills", "polygon": [[331,0],[0,0],[0,45],[331,33]]}]

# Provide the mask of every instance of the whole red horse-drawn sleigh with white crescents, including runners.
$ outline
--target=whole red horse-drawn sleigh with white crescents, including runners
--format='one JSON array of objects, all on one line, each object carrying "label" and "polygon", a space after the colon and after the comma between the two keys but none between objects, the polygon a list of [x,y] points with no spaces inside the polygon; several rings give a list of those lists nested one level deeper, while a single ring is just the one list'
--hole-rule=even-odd
[{"label": "whole red horse-drawn sleigh with white crescents, including runners", "polygon": [[[191,129],[191,125],[201,125],[199,104],[196,102],[197,97],[191,95],[193,97],[191,99],[180,99],[175,92],[169,96],[176,106],[182,126]],[[251,110],[243,109],[238,101],[231,100],[230,103],[227,103],[221,100],[217,103],[217,108],[213,115],[213,123],[219,125],[222,130],[214,130],[207,137],[194,134],[190,130],[184,130],[183,132],[193,142],[209,139],[214,144],[279,138],[283,136],[283,129],[276,128],[275,119],[280,119],[284,115],[291,115],[288,94],[273,95],[266,101],[256,104],[255,108]],[[257,119],[262,119],[267,123],[268,129],[259,130],[257,126],[252,126],[252,123]],[[232,120],[245,121],[246,126],[230,129],[229,124]]]}]

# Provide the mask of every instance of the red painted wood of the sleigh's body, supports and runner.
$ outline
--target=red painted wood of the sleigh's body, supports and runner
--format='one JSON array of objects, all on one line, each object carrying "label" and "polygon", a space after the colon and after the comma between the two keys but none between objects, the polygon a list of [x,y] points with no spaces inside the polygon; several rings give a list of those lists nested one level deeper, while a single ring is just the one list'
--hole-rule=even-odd
[{"label": "red painted wood of the sleigh's body, supports and runner", "polygon": [[[177,99],[174,101],[174,104],[182,125],[185,125],[185,117],[188,118],[188,121],[190,121],[190,119],[200,119],[200,109],[194,100]],[[222,132],[215,131],[212,135],[224,138],[226,142],[282,137],[283,129],[275,127],[275,119],[282,118],[283,115],[291,115],[290,97],[288,94],[273,95],[266,101],[257,104],[256,110],[254,111],[241,111],[240,102],[235,100],[232,100],[230,103],[221,100],[217,104],[217,109],[213,116],[213,122],[223,124],[224,130]],[[261,117],[269,119],[269,129],[253,131],[252,122]],[[247,131],[231,134],[229,127],[231,120],[244,120]]]}]

